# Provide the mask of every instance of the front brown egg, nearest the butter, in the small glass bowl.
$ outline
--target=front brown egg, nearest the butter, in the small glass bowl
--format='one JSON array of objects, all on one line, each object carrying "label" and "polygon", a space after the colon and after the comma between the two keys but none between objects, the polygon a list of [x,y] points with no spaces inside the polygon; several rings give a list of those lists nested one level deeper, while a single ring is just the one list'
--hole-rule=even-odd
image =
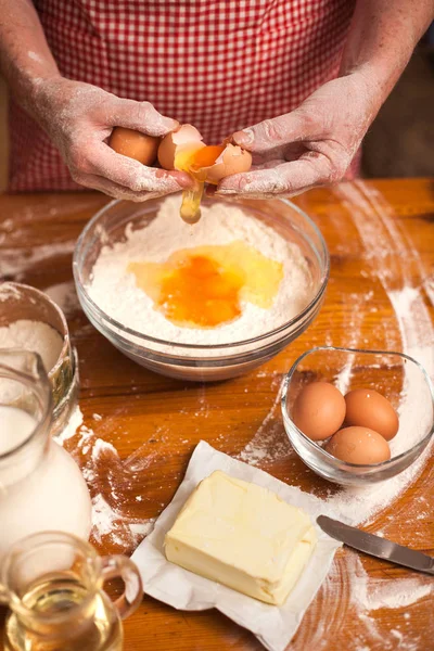
[{"label": "front brown egg, nearest the butter, in the small glass bowl", "polygon": [[369,427],[344,427],[327,442],[324,449],[341,461],[358,465],[381,463],[391,458],[387,442]]}]

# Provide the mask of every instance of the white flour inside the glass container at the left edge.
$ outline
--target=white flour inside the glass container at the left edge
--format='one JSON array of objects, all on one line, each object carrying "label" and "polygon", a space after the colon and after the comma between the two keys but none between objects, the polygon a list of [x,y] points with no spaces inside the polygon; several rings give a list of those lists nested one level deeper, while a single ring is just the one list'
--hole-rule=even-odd
[{"label": "white flour inside the glass container at the left edge", "polygon": [[20,319],[0,328],[0,348],[20,348],[40,355],[49,372],[59,359],[63,339],[54,328],[43,321]]}]

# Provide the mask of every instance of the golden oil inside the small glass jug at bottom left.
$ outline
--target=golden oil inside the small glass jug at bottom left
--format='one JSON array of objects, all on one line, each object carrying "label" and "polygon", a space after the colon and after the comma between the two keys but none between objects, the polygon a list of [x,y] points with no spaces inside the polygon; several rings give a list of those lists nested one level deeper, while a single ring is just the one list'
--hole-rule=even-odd
[{"label": "golden oil inside the small glass jug at bottom left", "polygon": [[67,572],[46,576],[21,599],[27,614],[11,613],[5,651],[120,651],[123,628],[103,591],[91,592]]}]

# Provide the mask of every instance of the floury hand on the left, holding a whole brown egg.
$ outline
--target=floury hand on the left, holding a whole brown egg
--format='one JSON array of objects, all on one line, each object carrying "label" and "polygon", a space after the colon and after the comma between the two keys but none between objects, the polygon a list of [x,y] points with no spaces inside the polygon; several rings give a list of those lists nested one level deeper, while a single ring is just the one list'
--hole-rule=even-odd
[{"label": "floury hand on the left, holding a whole brown egg", "polygon": [[184,173],[146,167],[107,145],[113,127],[164,136],[178,125],[149,102],[120,99],[95,86],[58,77],[40,82],[33,108],[81,186],[116,199],[144,201],[192,183]]}]

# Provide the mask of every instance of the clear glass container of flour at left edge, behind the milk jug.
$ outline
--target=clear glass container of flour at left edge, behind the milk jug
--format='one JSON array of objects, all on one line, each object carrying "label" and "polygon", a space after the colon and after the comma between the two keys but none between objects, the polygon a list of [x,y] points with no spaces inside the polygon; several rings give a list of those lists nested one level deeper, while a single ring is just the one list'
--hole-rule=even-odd
[{"label": "clear glass container of flour at left edge, behind the milk jug", "polygon": [[0,284],[0,327],[20,319],[42,321],[63,339],[62,349],[52,369],[48,370],[53,396],[52,435],[60,434],[77,404],[78,358],[71,345],[68,326],[61,308],[39,290],[17,282]]}]

